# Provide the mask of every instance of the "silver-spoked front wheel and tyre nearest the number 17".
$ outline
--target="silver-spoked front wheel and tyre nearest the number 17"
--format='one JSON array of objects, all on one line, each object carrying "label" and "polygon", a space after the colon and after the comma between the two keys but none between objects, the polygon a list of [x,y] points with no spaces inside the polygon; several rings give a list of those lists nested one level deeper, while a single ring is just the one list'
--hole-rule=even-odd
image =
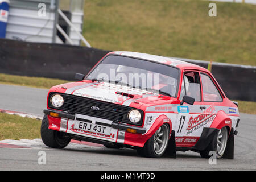
[{"label": "silver-spoked front wheel and tyre nearest the number 17", "polygon": [[150,158],[160,158],[168,146],[170,129],[167,124],[159,127],[150,139],[144,144],[144,147],[137,148],[141,156]]}]

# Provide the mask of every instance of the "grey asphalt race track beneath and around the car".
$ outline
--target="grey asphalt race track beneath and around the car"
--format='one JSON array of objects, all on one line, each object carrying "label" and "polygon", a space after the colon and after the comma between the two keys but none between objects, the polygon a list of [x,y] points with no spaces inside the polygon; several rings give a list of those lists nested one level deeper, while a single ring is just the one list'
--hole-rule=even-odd
[{"label": "grey asphalt race track beneath and around the car", "polygon": [[[43,116],[48,90],[0,85],[0,109]],[[40,121],[39,121],[40,122]],[[0,170],[255,170],[256,115],[241,113],[235,136],[234,159],[209,164],[195,152],[177,152],[177,158],[142,158],[135,150],[110,149],[92,143],[70,143],[63,150],[44,146],[40,139],[0,141]],[[46,164],[39,164],[40,151]]]}]

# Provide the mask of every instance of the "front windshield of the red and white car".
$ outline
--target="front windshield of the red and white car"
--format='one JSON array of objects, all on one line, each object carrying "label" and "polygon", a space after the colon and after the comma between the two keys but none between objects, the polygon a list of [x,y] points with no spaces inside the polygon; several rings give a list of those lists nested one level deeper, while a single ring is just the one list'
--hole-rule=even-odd
[{"label": "front windshield of the red and white car", "polygon": [[176,97],[179,69],[151,61],[109,55],[86,77]]}]

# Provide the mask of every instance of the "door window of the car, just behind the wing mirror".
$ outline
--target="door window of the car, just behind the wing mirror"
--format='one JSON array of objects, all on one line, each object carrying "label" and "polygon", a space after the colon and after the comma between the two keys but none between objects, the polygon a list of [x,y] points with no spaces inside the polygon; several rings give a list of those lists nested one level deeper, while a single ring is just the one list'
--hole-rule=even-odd
[{"label": "door window of the car, just behind the wing mirror", "polygon": [[201,101],[201,87],[198,72],[184,72],[180,99],[184,95],[195,98],[195,101]]}]

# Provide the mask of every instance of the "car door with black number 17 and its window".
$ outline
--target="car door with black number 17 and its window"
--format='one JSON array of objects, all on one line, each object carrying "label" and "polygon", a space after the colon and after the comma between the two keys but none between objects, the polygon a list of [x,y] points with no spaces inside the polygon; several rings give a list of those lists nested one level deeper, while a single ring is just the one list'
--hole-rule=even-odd
[{"label": "car door with black number 17 and its window", "polygon": [[201,122],[205,119],[204,110],[208,106],[202,102],[201,79],[199,71],[185,70],[181,84],[180,100],[184,95],[195,98],[193,105],[184,103],[177,106],[175,137],[177,146],[193,146],[201,135]]}]

